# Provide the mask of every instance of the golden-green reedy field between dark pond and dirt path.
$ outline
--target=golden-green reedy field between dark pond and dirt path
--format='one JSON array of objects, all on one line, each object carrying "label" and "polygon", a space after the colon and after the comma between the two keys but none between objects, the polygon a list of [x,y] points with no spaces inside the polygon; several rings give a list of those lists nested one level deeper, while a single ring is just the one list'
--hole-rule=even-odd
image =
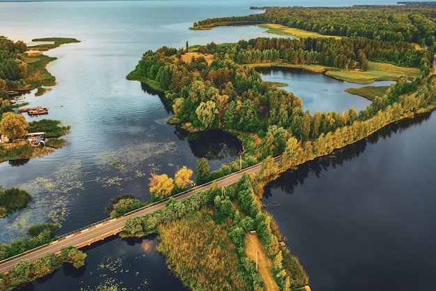
[{"label": "golden-green reedy field between dark pond and dirt path", "polygon": [[223,218],[224,223],[215,223],[213,216],[202,209],[159,225],[157,251],[193,290],[249,290],[236,247],[228,237],[231,221]]}]

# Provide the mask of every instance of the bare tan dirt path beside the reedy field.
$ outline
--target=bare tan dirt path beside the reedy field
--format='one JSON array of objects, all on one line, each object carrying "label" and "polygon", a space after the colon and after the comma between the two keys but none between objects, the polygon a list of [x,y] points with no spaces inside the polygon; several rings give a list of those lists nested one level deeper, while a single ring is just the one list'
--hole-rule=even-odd
[{"label": "bare tan dirt path beside the reedy field", "polygon": [[[247,234],[245,236],[245,253],[247,256],[256,262],[258,262],[258,272],[263,278],[263,286],[266,291],[279,291],[279,286],[274,280],[274,274],[272,274],[272,260],[267,257],[263,251],[263,245],[256,234]],[[257,251],[257,255],[256,255]]]}]

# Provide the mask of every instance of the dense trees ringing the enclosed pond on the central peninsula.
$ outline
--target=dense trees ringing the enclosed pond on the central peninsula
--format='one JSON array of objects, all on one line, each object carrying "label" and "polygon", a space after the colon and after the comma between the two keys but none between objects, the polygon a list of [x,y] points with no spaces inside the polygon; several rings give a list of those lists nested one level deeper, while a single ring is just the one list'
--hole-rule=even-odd
[{"label": "dense trees ringing the enclosed pond on the central peninsula", "polygon": [[[325,50],[328,47],[339,47],[339,50],[344,52],[344,56],[349,55],[353,58],[360,56],[361,60],[368,57],[371,61],[377,58],[384,58],[384,61],[397,59],[407,64],[419,64],[422,74],[412,82],[399,80],[392,85],[385,96],[375,98],[366,110],[359,113],[351,108],[342,113],[315,112],[312,115],[310,112],[302,112],[301,100],[292,93],[269,87],[260,79],[254,68],[240,66],[233,60],[238,60],[242,54],[256,50],[261,52],[259,55],[274,50],[279,58],[284,56],[286,50],[295,51],[296,47],[303,52],[308,52],[306,50],[308,48],[314,52],[313,47],[324,47]],[[409,114],[407,112],[416,113],[420,107],[431,107],[435,103],[433,79],[427,78],[432,67],[430,53],[426,50],[414,50],[411,45],[404,43],[364,38],[344,40],[256,38],[248,42],[240,41],[234,45],[210,43],[205,46],[205,51],[215,54],[210,65],[202,57],[193,58],[190,63],[185,63],[177,55],[182,52],[176,52],[175,49],[149,51],[139,61],[136,72],[151,79],[155,76],[154,81],[166,91],[166,97],[173,104],[174,114],[171,122],[194,128],[224,127],[244,133],[256,133],[263,138],[261,147],[265,149],[264,157],[268,154],[273,156],[281,154],[290,136],[300,142],[306,142],[316,140],[320,135],[332,134],[338,128],[352,126],[356,121],[360,121],[364,126],[365,122],[368,124],[369,119],[380,110],[386,109],[388,105],[390,108],[395,108],[395,113],[388,118],[389,123],[394,119],[403,118]],[[176,54],[168,56],[169,52]],[[391,52],[392,56],[387,57],[387,54],[382,52]],[[202,65],[198,66],[198,64]],[[159,66],[158,73],[154,74],[154,68],[157,66]],[[180,82],[180,80],[184,81]],[[421,87],[427,88],[422,94],[398,98]],[[372,122],[371,124],[376,125]],[[358,130],[359,136],[366,133],[366,130],[362,133],[360,128],[353,128],[353,133],[355,130]],[[372,128],[370,131],[373,131]]]}]

